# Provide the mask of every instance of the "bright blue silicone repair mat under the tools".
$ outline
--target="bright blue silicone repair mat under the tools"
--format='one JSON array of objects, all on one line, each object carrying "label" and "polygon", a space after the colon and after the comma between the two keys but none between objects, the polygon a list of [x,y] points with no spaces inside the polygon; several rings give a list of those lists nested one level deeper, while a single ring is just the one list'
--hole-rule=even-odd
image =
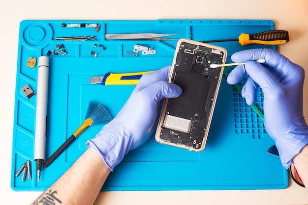
[{"label": "bright blue silicone repair mat under the tools", "polygon": [[[94,27],[62,27],[62,24],[98,24]],[[271,20],[157,20],[157,21],[71,21],[26,20],[20,23],[15,93],[15,116],[11,187],[16,191],[45,190],[86,150],[85,143],[103,125],[83,132],[37,181],[34,157],[36,96],[28,99],[21,88],[37,90],[37,62],[28,67],[29,57],[49,56],[46,158],[83,123],[90,101],[102,103],[115,117],[134,89],[131,85],[91,85],[90,77],[108,72],[129,73],[157,70],[170,65],[177,41],[108,40],[108,33],[168,33],[196,41],[234,39],[241,33],[275,29]],[[57,37],[96,36],[96,41],[64,41]],[[63,44],[66,54],[57,49]],[[96,47],[95,47],[96,45]],[[155,54],[138,56],[135,45],[153,49]],[[237,41],[215,43],[228,51],[271,48]],[[105,49],[103,49],[105,48]],[[53,51],[54,50],[54,51]],[[53,54],[60,52],[58,55]],[[91,51],[97,53],[93,55]],[[243,85],[240,85],[243,86]],[[256,105],[262,110],[262,93]],[[145,113],[146,115],[146,113]],[[238,91],[223,77],[205,150],[201,153],[162,145],[154,136],[139,149],[127,154],[102,190],[220,190],[280,189],[288,185],[287,172],[277,156],[267,154],[274,141],[262,119],[246,105]],[[15,173],[31,161],[31,179],[22,181]],[[74,179],[75,180],[75,179]],[[78,179],[76,179],[78,180]]]}]

